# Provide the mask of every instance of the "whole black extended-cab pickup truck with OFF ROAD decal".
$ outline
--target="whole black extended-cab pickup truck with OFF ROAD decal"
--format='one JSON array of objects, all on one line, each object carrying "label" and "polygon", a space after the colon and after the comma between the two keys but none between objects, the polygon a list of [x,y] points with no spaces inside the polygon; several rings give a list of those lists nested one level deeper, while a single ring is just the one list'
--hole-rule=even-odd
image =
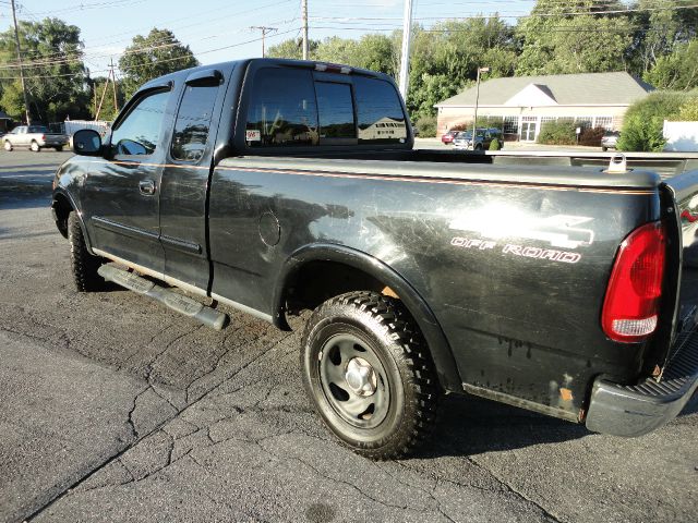
[{"label": "whole black extended-cab pickup truck with OFF ROAD decal", "polygon": [[698,384],[698,172],[486,165],[411,129],[392,78],[348,66],[154,80],[56,174],[77,289],[214,328],[217,303],[280,329],[312,311],[302,380],[370,458],[412,450],[443,392],[619,436],[676,416]]}]

